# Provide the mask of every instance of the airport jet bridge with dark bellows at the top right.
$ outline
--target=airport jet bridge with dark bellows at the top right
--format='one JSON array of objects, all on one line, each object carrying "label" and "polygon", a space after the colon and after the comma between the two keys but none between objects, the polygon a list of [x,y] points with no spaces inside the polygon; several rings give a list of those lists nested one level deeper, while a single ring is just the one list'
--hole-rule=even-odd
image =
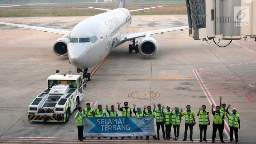
[{"label": "airport jet bridge with dark bellows at the top right", "polygon": [[214,39],[230,40],[231,43],[232,40],[254,38],[256,44],[256,0],[185,1],[189,36],[194,40],[202,39],[207,43],[213,40],[218,45]]}]

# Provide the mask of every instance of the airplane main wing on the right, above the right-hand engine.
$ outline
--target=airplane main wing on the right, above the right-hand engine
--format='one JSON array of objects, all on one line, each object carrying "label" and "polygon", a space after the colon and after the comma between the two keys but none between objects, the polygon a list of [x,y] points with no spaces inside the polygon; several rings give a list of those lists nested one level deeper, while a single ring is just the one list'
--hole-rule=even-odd
[{"label": "airplane main wing on the right, above the right-hand engine", "polygon": [[135,38],[139,38],[142,36],[150,36],[154,34],[159,34],[159,33],[165,33],[165,32],[170,32],[170,31],[175,31],[175,30],[183,30],[183,29],[188,29],[188,26],[183,26],[183,27],[175,27],[175,28],[166,28],[166,29],[156,29],[156,30],[150,30],[150,31],[144,31],[144,32],[138,32],[138,33],[132,33],[132,34],[124,34],[122,36],[122,42],[127,42]]}]

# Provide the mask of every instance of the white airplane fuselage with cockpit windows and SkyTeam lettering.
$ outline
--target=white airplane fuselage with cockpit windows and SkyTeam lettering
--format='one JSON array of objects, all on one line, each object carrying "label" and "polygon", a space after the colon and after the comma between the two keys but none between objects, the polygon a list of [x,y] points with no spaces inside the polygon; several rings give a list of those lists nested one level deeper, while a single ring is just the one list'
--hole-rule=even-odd
[{"label": "white airplane fuselage with cockpit windows and SkyTeam lettering", "polygon": [[68,58],[80,69],[100,63],[109,52],[122,44],[121,37],[131,26],[129,10],[115,9],[78,23],[68,36]]}]

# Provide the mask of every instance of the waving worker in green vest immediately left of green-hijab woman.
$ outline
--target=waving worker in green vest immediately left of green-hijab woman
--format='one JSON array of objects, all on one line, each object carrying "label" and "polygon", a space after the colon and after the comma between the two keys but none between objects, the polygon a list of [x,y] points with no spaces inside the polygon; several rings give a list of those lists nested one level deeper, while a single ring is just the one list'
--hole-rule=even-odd
[{"label": "waving worker in green vest immediately left of green-hijab woman", "polygon": [[[164,106],[163,106],[164,109]],[[166,139],[170,140],[172,139],[171,137],[171,128],[172,128],[172,116],[171,116],[171,108],[170,106],[166,107],[167,111],[162,111],[162,113],[164,114],[164,124],[165,124],[165,135],[166,135]]]}]

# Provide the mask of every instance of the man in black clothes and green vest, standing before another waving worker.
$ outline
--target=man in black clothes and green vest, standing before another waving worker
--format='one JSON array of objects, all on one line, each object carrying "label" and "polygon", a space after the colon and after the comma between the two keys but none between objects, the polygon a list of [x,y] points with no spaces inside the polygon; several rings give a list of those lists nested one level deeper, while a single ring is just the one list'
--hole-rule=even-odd
[{"label": "man in black clothes and green vest, standing before another waving worker", "polygon": [[220,141],[225,143],[223,140],[223,128],[222,128],[222,119],[223,113],[220,112],[220,106],[216,107],[216,111],[213,111],[214,105],[212,105],[212,115],[213,115],[213,124],[212,124],[212,143],[214,143],[216,138],[216,132],[219,131]]}]

